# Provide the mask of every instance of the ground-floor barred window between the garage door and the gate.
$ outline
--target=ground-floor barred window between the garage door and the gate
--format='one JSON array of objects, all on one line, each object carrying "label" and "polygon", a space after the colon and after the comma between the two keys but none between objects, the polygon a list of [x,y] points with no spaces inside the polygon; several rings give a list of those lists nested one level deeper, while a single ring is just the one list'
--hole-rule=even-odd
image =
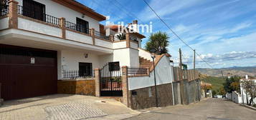
[{"label": "ground-floor barred window between the garage door and the gate", "polygon": [[79,76],[93,76],[93,64],[80,62]]}]

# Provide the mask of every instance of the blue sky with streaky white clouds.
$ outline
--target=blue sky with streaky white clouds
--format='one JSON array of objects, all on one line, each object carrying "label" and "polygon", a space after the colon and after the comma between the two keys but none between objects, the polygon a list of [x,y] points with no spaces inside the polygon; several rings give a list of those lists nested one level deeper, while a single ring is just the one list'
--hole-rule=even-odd
[{"label": "blue sky with streaky white clouds", "polygon": [[[193,51],[164,26],[143,0],[77,0],[111,22],[153,25],[153,33],[165,31],[174,64],[179,63],[179,48],[184,64],[193,66]],[[256,66],[255,0],[146,0],[171,29],[213,68]],[[105,24],[102,21],[101,24]],[[143,33],[142,46],[151,33]],[[196,56],[196,68],[210,68]]]}]

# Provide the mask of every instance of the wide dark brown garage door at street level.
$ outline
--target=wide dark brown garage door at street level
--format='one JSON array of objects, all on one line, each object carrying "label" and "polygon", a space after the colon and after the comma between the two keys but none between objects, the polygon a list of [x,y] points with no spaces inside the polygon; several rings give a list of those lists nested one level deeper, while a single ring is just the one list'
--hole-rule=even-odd
[{"label": "wide dark brown garage door at street level", "polygon": [[1,97],[22,99],[57,93],[57,51],[0,44]]}]

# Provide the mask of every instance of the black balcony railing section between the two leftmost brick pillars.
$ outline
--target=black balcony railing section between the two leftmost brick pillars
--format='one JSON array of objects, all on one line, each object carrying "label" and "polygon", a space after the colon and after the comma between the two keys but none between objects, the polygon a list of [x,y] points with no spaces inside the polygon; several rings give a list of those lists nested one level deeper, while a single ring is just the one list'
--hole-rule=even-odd
[{"label": "black balcony railing section between the two leftmost brick pillars", "polygon": [[40,21],[44,21],[49,24],[60,25],[60,19],[54,16],[50,16],[48,14],[43,14],[42,12],[32,11],[29,8],[24,8],[23,6],[18,5],[18,14],[23,16],[28,16],[32,19],[37,19]]}]

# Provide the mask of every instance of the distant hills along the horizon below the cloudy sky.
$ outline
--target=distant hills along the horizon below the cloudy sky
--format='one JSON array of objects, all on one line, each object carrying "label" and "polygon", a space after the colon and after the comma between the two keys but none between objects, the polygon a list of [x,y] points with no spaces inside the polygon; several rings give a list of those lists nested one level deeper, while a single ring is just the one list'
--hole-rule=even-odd
[{"label": "distant hills along the horizon below the cloudy sky", "polygon": [[234,66],[229,68],[222,69],[197,69],[201,74],[207,74],[208,76],[222,76],[220,71],[223,71],[224,76],[229,75],[237,75],[237,76],[245,76],[248,74],[249,76],[256,77],[256,66]]}]

